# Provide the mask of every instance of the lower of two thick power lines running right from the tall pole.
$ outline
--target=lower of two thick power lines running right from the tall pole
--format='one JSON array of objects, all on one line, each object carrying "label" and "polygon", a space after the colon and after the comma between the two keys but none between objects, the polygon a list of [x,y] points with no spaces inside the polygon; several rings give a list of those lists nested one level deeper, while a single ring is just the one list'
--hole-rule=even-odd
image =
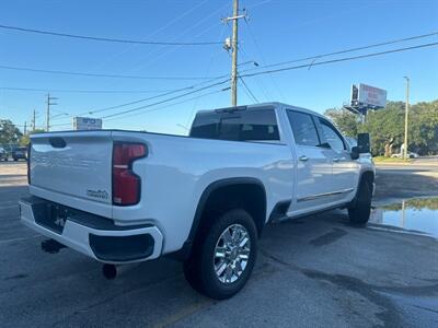
[{"label": "lower of two thick power lines running right from the tall pole", "polygon": [[371,52],[371,54],[359,55],[359,56],[354,56],[354,57],[344,57],[344,58],[332,59],[332,60],[326,60],[326,61],[319,61],[319,62],[311,62],[311,63],[304,63],[304,65],[299,65],[299,66],[286,67],[286,68],[275,69],[275,70],[266,70],[266,71],[261,71],[261,72],[246,73],[246,74],[242,74],[241,77],[242,78],[257,77],[257,75],[262,75],[262,74],[277,73],[277,72],[283,72],[283,71],[289,71],[289,70],[300,69],[300,68],[308,68],[308,67],[327,65],[327,63],[334,63],[334,62],[341,62],[341,61],[364,59],[364,58],[369,58],[369,57],[377,57],[377,56],[382,56],[382,55],[388,55],[388,54],[401,52],[401,51],[433,47],[433,46],[438,46],[438,43],[423,44],[423,45],[418,45],[418,46],[397,48],[397,49],[392,49],[392,50],[387,50],[387,51]]}]

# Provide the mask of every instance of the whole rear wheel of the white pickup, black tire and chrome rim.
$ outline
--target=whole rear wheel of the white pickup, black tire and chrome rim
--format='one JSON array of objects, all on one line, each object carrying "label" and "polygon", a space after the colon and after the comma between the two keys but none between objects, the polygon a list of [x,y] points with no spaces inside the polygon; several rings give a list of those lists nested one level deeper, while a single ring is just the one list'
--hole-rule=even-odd
[{"label": "whole rear wheel of the white pickup, black tire and chrome rim", "polygon": [[246,283],[254,268],[257,232],[244,210],[220,215],[194,244],[184,273],[198,292],[216,300],[229,298]]}]

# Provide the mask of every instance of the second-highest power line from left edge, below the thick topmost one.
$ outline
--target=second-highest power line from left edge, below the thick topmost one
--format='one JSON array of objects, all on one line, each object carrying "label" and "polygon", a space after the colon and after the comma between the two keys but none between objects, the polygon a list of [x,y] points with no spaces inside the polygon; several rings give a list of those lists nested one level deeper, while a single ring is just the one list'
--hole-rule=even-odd
[{"label": "second-highest power line from left edge, below the thick topmost one", "polygon": [[140,77],[140,75],[99,74],[99,73],[87,73],[87,72],[33,69],[33,68],[3,66],[3,65],[0,65],[0,69],[15,70],[15,71],[28,71],[28,72],[36,72],[36,73],[80,75],[80,77],[92,77],[92,78],[112,78],[112,79],[138,79],[138,80],[208,80],[208,79],[212,79],[211,77],[210,78],[208,78],[208,77]]}]

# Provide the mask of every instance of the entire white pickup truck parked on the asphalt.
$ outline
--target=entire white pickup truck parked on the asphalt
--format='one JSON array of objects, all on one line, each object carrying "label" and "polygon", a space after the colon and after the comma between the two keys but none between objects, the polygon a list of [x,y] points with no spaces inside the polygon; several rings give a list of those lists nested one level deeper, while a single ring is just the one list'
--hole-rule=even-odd
[{"label": "entire white pickup truck parked on the asphalt", "polygon": [[[350,148],[323,116],[280,103],[199,112],[188,137],[99,130],[33,134],[22,222],[104,265],[164,255],[197,291],[247,281],[270,221],[334,208],[367,223],[368,134]],[[46,248],[48,246],[46,245]]]}]

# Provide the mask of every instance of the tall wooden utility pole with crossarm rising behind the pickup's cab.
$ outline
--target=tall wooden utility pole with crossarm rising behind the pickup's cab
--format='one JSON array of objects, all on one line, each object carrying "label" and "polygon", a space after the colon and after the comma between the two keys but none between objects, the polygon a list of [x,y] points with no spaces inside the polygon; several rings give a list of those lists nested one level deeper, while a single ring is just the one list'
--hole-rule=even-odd
[{"label": "tall wooden utility pole with crossarm rising behind the pickup's cab", "polygon": [[226,40],[224,48],[231,49],[231,106],[238,105],[238,38],[239,38],[239,20],[246,17],[245,14],[239,15],[239,0],[233,0],[233,13],[231,17],[226,17],[222,21],[232,21],[232,37],[231,43]]}]

